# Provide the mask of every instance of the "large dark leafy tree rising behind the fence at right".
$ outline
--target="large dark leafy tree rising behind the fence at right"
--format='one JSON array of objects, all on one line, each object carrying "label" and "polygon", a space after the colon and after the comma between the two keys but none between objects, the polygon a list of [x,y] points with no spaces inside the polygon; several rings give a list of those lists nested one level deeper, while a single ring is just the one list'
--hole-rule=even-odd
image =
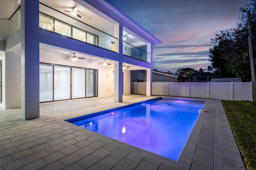
[{"label": "large dark leafy tree rising behind the fence at right", "polygon": [[[251,31],[256,35],[256,0],[252,0],[245,8],[241,8],[242,16],[236,29],[220,31],[211,43],[209,61],[216,73],[222,77],[240,77],[243,81],[251,81],[250,58],[248,52],[248,20],[247,11],[251,11]],[[255,48],[255,47],[254,47]],[[254,57],[256,56],[254,50]]]}]

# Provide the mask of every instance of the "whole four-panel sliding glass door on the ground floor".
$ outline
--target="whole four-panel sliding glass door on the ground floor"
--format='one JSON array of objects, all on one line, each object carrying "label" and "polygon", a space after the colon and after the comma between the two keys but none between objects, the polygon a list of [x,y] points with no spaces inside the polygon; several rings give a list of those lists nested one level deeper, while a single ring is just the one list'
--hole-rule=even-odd
[{"label": "whole four-panel sliding glass door on the ground floor", "polygon": [[40,102],[95,97],[97,74],[89,68],[40,63]]}]

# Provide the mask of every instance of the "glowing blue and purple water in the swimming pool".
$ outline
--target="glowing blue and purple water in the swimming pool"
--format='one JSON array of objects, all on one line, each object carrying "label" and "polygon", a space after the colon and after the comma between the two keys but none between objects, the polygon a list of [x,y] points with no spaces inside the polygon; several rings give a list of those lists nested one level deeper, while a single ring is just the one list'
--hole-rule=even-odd
[{"label": "glowing blue and purple water in the swimming pool", "polygon": [[[178,160],[204,101],[152,100],[123,109],[105,111],[88,119],[67,120],[155,154]],[[86,117],[86,116],[85,116]]]}]

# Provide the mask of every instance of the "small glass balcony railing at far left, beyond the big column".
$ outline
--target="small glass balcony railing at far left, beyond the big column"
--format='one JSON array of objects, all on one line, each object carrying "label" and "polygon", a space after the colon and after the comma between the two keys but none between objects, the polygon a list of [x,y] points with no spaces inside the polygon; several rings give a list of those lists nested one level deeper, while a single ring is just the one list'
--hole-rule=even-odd
[{"label": "small glass balcony railing at far left, beyond the big column", "polygon": [[9,19],[9,30],[8,36],[15,33],[18,29],[20,29],[21,25],[21,15],[20,15],[20,7],[12,14]]}]

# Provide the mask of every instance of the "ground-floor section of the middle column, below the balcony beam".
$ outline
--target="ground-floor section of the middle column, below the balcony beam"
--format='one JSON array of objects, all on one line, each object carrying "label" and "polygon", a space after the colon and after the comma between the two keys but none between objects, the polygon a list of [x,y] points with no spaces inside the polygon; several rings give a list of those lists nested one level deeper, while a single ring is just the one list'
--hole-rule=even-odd
[{"label": "ground-floor section of the middle column, below the balcony beam", "polygon": [[123,70],[122,62],[114,64],[114,102],[123,101]]}]

